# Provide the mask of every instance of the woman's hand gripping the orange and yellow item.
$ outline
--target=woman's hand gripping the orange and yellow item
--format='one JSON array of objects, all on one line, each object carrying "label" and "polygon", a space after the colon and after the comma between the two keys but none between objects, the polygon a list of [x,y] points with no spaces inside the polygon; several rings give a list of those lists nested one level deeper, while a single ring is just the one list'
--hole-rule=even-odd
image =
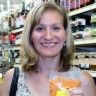
[{"label": "woman's hand gripping the orange and yellow item", "polygon": [[71,88],[69,91],[70,96],[84,96],[84,92],[81,88]]}]

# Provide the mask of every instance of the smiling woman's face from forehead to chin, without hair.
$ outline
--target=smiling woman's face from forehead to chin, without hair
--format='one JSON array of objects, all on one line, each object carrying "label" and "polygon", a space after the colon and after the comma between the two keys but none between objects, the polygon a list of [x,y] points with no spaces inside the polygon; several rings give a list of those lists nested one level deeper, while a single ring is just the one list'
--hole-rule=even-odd
[{"label": "smiling woman's face from forehead to chin, without hair", "polygon": [[60,55],[66,41],[63,18],[60,13],[44,12],[40,23],[33,29],[31,40],[40,56],[50,58]]}]

